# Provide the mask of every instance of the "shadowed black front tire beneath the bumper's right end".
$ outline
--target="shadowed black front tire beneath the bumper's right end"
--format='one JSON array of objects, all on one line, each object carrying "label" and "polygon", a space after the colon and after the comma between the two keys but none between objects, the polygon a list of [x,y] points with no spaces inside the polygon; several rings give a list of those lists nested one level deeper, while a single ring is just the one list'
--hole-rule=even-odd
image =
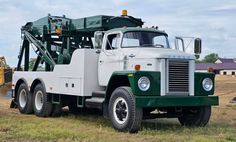
[{"label": "shadowed black front tire beneath the bumper's right end", "polygon": [[179,122],[183,126],[203,127],[210,120],[211,106],[185,107]]}]

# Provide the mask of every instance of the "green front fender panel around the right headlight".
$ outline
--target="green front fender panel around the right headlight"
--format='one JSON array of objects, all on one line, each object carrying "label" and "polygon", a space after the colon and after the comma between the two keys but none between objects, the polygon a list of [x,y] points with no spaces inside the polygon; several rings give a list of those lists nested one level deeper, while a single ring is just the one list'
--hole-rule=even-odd
[{"label": "green front fender panel around the right headlight", "polygon": [[[212,79],[214,85],[213,89],[209,92],[205,91],[202,87],[202,81],[204,78]],[[195,72],[194,74],[194,95],[195,96],[208,96],[213,95],[215,90],[215,74],[214,73],[200,73]]]}]

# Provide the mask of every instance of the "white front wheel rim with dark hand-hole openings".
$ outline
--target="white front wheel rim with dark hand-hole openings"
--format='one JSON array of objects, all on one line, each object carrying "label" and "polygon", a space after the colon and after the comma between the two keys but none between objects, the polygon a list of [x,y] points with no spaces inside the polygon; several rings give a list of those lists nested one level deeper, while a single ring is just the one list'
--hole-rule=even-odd
[{"label": "white front wheel rim with dark hand-hole openings", "polygon": [[124,98],[117,98],[113,105],[113,115],[117,123],[124,124],[128,119],[128,105]]}]

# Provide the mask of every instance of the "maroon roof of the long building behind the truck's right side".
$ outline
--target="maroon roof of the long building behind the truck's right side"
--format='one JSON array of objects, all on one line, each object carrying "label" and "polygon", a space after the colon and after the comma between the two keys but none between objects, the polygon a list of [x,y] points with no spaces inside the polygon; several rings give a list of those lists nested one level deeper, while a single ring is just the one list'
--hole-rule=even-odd
[{"label": "maroon roof of the long building behind the truck's right side", "polygon": [[197,63],[196,70],[207,70],[213,68],[214,70],[236,70],[236,63]]}]

